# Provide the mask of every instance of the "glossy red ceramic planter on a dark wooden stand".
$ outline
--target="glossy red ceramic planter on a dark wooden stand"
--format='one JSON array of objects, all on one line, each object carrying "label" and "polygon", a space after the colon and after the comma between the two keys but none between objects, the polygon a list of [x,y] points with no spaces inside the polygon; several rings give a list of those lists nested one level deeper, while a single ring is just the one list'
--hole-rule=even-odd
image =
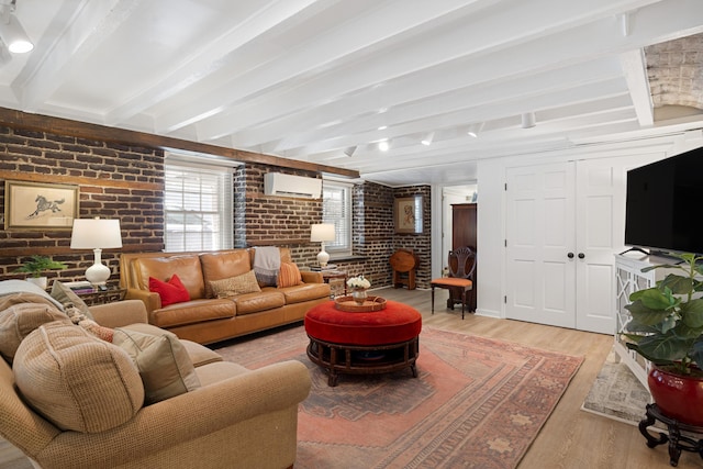
[{"label": "glossy red ceramic planter on a dark wooden stand", "polygon": [[666,416],[703,426],[703,378],[682,377],[652,367],[647,383],[655,403]]}]

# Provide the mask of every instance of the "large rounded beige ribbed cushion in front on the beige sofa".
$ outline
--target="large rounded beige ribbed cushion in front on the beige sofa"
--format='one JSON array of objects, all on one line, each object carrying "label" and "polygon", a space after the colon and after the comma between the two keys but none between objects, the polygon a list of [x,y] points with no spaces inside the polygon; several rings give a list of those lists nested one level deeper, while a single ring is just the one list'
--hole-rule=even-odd
[{"label": "large rounded beige ribbed cushion in front on the beige sofa", "polygon": [[12,366],[24,399],[62,429],[99,433],[130,421],[144,388],[130,356],[74,324],[40,326]]}]

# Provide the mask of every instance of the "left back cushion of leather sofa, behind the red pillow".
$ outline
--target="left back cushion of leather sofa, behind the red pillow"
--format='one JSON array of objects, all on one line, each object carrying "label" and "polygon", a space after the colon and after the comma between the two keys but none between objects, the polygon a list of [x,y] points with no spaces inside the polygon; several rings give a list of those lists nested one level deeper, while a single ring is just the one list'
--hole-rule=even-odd
[{"label": "left back cushion of leather sofa, behind the red pillow", "polygon": [[166,281],[174,273],[188,290],[191,300],[205,298],[205,283],[200,268],[198,255],[169,256],[169,257],[143,257],[132,263],[136,270],[137,283],[141,290],[149,289],[149,277]]}]

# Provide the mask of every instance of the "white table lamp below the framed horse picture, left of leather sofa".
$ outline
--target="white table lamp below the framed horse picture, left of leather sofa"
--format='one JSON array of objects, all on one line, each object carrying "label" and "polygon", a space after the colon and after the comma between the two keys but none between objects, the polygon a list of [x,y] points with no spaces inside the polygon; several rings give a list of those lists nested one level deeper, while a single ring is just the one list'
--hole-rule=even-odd
[{"label": "white table lamp below the framed horse picture, left of leather sofa", "polygon": [[86,280],[97,287],[104,287],[110,278],[110,268],[102,264],[102,249],[122,247],[120,221],[109,219],[75,219],[70,235],[71,249],[92,249],[94,264],[86,270]]}]

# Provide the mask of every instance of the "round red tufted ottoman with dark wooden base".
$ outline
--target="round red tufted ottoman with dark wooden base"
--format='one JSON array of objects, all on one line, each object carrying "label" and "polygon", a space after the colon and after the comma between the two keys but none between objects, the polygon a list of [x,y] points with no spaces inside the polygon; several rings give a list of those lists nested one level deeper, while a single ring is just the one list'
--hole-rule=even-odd
[{"label": "round red tufted ottoman with dark wooden base", "polygon": [[327,301],[305,313],[310,337],[308,357],[328,371],[328,384],[338,373],[372,375],[410,367],[417,376],[422,315],[413,308],[387,301],[386,309],[368,313],[339,311]]}]

